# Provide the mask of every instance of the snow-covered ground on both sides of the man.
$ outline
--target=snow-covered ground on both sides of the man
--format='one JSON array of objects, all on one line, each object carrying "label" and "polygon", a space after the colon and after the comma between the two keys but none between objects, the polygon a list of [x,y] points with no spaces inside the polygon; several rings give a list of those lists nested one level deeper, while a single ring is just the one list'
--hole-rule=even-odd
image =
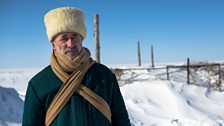
[{"label": "snow-covered ground on both sides of the man", "polygon": [[[21,125],[27,83],[40,70],[0,70],[0,126]],[[224,91],[188,85],[185,74],[185,71],[173,73],[168,81],[165,69],[124,71],[120,76],[121,92],[132,125],[224,126]],[[210,76],[203,71],[197,74],[202,78],[197,81],[199,85],[206,85],[203,77]],[[216,80],[216,76],[209,79],[211,84]]]}]

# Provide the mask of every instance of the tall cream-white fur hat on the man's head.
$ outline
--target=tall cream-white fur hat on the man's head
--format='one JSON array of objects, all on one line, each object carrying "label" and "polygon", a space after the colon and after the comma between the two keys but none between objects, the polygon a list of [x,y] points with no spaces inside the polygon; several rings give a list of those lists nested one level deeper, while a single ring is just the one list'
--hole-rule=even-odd
[{"label": "tall cream-white fur hat on the man's head", "polygon": [[47,12],[44,16],[47,36],[50,42],[62,32],[76,32],[86,37],[85,15],[77,8],[60,7]]}]

